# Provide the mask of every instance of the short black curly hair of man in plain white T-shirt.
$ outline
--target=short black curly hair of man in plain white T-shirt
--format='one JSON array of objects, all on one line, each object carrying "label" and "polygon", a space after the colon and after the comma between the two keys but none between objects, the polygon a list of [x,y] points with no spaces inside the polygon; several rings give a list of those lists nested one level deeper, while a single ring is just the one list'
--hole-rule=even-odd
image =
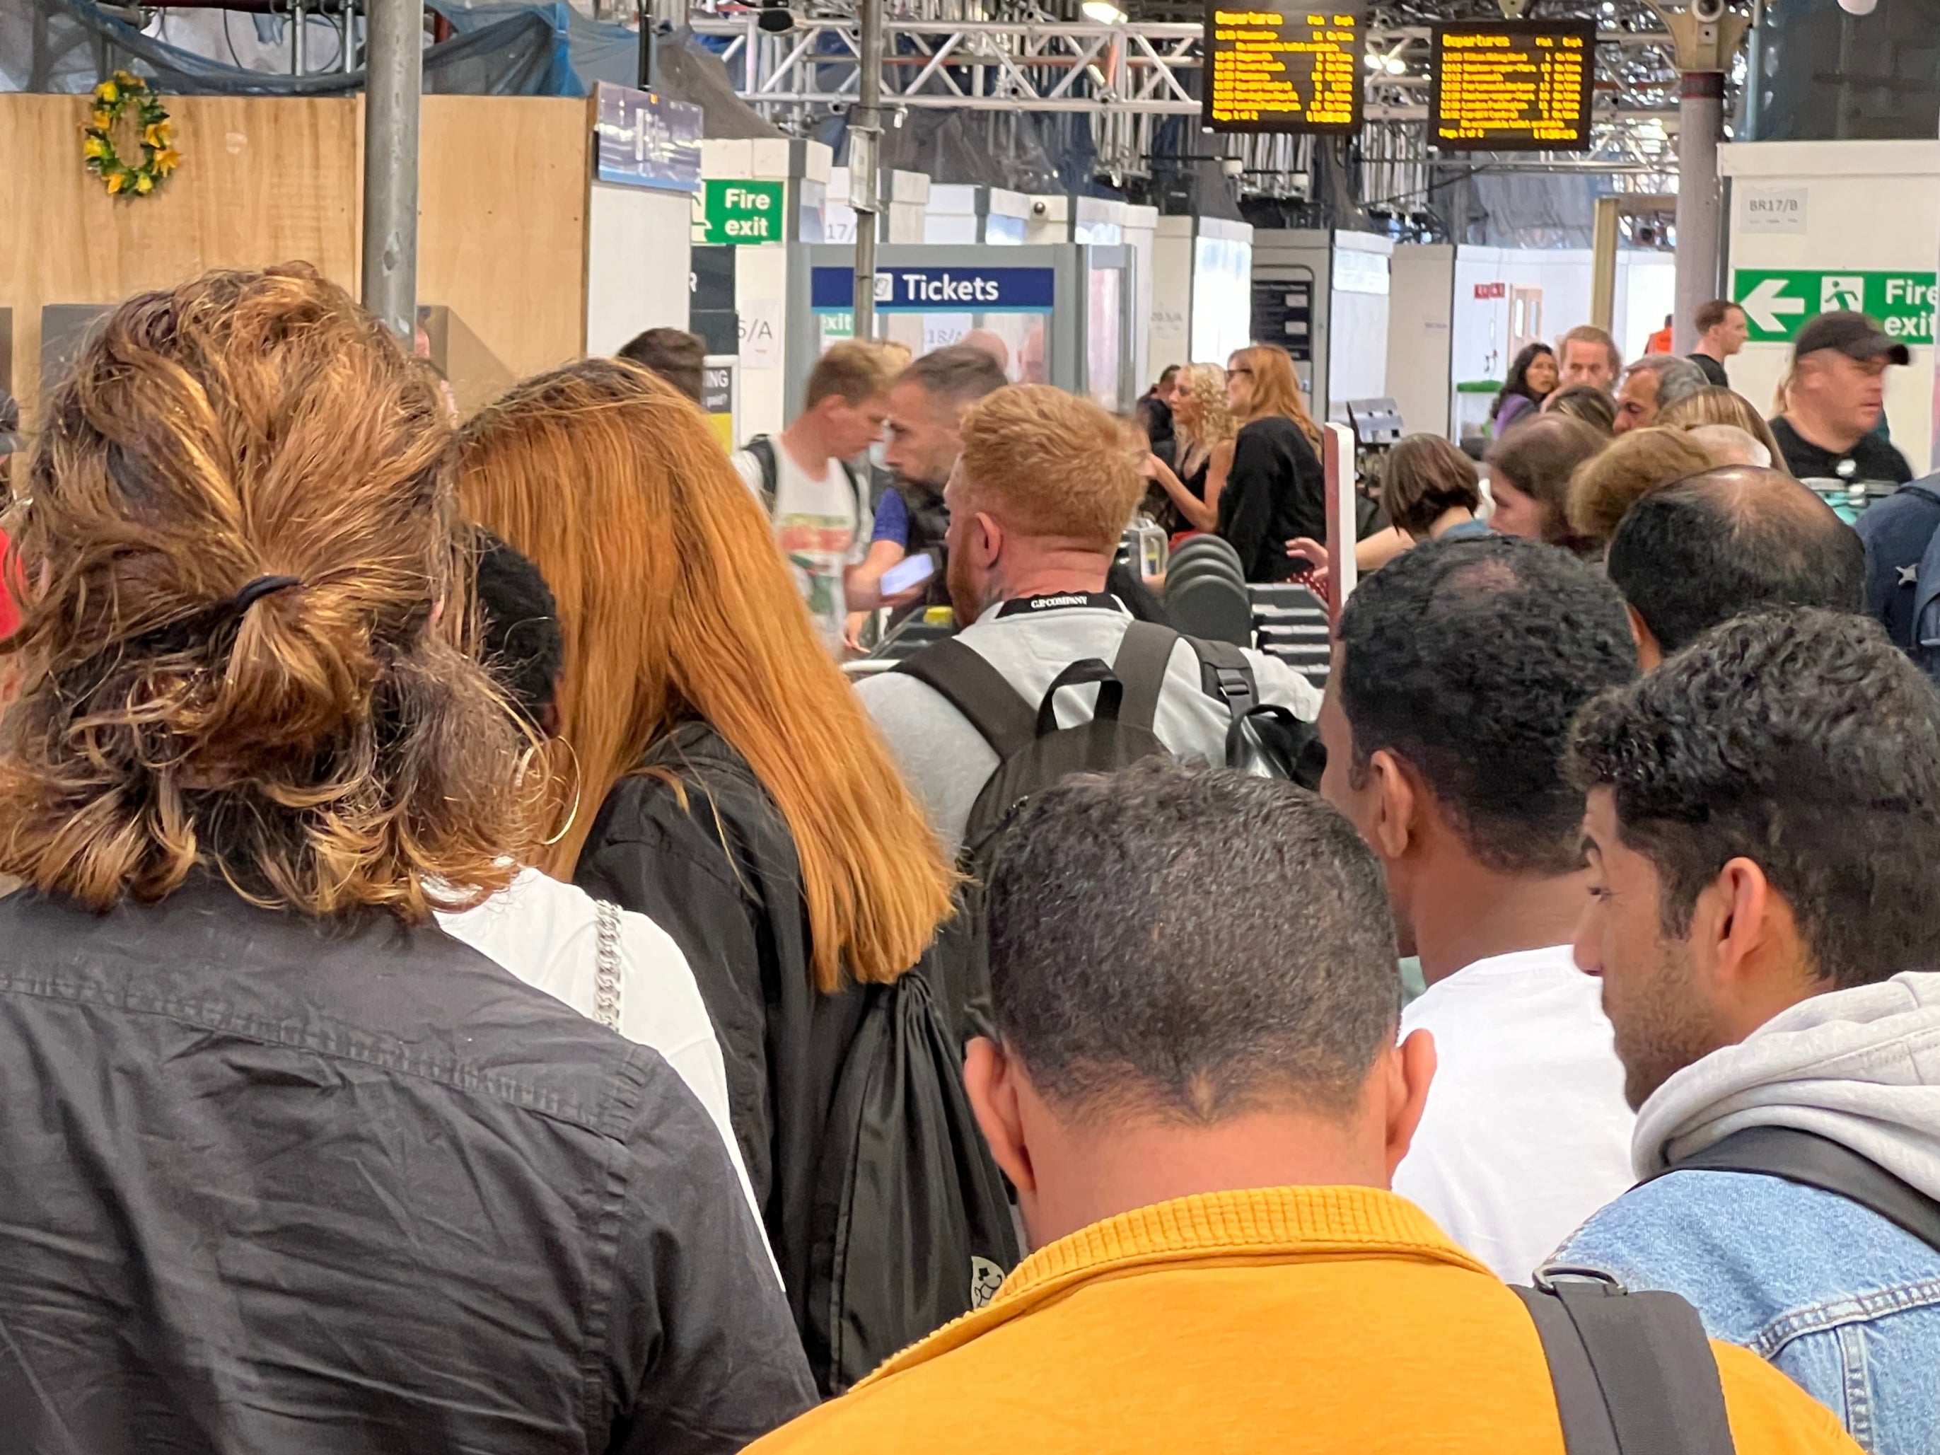
[{"label": "short black curly hair of man in plain white T-shirt", "polygon": [[1432,541],[1348,598],[1341,648],[1350,774],[1395,753],[1488,867],[1581,867],[1583,793],[1564,776],[1569,720],[1637,675],[1610,582],[1513,535]]}]

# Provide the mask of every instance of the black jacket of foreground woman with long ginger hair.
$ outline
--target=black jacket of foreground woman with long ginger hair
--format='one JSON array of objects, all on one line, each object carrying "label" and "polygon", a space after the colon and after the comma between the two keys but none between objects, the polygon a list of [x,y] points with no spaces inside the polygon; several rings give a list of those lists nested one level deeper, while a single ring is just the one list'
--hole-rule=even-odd
[{"label": "black jacket of foreground woman with long ginger hair", "polygon": [[815,1178],[836,1081],[875,987],[815,987],[801,861],[788,821],[733,747],[689,722],[599,807],[578,883],[650,916],[700,982],[728,1061],[728,1110],[805,1329]]}]

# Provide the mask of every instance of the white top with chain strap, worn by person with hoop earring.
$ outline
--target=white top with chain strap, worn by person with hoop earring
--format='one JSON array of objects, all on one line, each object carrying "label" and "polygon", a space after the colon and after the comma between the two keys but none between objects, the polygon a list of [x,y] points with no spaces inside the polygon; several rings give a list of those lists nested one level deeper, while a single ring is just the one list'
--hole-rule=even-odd
[{"label": "white top with chain strap, worn by person with hoop earring", "polygon": [[[520,869],[518,879],[483,904],[462,914],[440,914],[438,925],[534,989],[594,1018],[599,920],[594,898],[584,889],[563,885],[537,869]],[[632,910],[619,914],[617,949],[619,1032],[660,1051],[714,1117],[759,1224],[760,1209],[755,1207],[755,1189],[728,1117],[728,1069],[687,956],[665,929]]]}]

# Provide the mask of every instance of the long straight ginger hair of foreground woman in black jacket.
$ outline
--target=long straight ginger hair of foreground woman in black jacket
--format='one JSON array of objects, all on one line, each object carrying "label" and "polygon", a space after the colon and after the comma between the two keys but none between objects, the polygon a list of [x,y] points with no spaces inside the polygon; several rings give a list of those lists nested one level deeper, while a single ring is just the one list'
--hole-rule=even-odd
[{"label": "long straight ginger hair of foreground woman in black jacket", "polygon": [[460,495],[559,599],[582,807],[545,867],[570,875],[613,786],[700,718],[788,821],[815,984],[910,968],[949,914],[951,869],[700,413],[611,359],[539,374],[464,427]]}]

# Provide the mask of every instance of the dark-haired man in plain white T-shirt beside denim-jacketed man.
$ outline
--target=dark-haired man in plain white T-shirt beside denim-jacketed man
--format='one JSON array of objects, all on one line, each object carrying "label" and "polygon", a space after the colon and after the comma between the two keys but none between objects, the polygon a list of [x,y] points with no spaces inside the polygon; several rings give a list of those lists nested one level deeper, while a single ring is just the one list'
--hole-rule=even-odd
[{"label": "dark-haired man in plain white T-shirt beside denim-jacketed man", "polygon": [[1321,792],[1387,865],[1439,1069],[1395,1191],[1527,1282],[1630,1187],[1632,1112],[1599,987],[1571,954],[1589,894],[1569,722],[1632,681],[1624,599],[1513,535],[1432,541],[1341,615]]}]

